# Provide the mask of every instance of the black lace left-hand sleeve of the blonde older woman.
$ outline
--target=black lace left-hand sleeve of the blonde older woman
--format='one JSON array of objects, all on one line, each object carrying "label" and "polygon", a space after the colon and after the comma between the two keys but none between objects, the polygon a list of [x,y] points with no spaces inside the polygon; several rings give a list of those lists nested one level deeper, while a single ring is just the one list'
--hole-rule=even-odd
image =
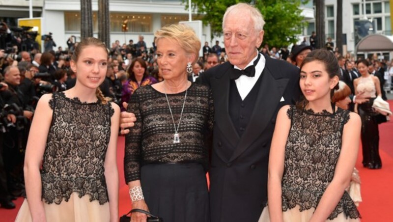
[{"label": "black lace left-hand sleeve of the blonde older woman", "polygon": [[130,128],[130,133],[126,135],[124,150],[124,177],[126,183],[140,179],[142,118],[138,94],[138,92],[135,92],[131,96],[130,103],[127,107],[128,112],[133,112],[135,114],[137,121],[134,127]]}]

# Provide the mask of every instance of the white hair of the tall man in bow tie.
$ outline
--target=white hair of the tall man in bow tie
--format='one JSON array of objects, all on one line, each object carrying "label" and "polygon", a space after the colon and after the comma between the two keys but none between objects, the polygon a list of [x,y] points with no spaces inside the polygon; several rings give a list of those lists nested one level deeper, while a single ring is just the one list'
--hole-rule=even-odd
[{"label": "white hair of the tall man in bow tie", "polygon": [[265,20],[263,20],[263,16],[261,12],[259,11],[259,9],[255,8],[255,6],[247,3],[237,3],[226,9],[223,17],[223,29],[225,27],[226,16],[228,16],[229,13],[236,13],[240,16],[242,15],[239,12],[240,10],[244,10],[242,12],[243,15],[251,16],[251,19],[254,22],[254,31],[259,32],[263,30],[263,26],[265,25]]}]

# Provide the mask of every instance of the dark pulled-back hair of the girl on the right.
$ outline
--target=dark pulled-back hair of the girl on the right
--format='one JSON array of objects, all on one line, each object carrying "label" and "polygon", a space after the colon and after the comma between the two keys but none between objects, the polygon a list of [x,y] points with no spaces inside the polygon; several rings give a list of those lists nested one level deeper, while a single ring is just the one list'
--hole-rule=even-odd
[{"label": "dark pulled-back hair of the girl on the right", "polygon": [[[338,60],[336,56],[332,53],[327,51],[326,49],[317,49],[311,51],[306,58],[303,60],[302,64],[300,65],[300,70],[302,70],[303,66],[312,61],[319,61],[325,65],[325,70],[329,74],[329,78],[332,79],[333,77],[337,76],[340,78],[340,66],[338,65]],[[330,91],[330,98],[334,96],[335,90],[338,89],[337,85]],[[302,94],[300,96],[300,101],[296,103],[296,107],[298,109],[303,110],[306,105],[309,103],[307,99]]]}]

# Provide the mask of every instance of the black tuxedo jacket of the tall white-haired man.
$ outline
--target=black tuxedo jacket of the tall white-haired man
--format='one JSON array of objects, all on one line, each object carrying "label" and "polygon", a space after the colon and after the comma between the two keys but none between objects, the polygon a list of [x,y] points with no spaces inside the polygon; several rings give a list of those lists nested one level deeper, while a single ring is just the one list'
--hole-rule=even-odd
[{"label": "black tuxedo jacket of the tall white-haired man", "polygon": [[283,105],[293,104],[300,90],[296,66],[265,58],[253,114],[242,137],[228,111],[232,65],[225,62],[198,78],[210,85],[215,107],[209,171],[211,222],[256,222],[267,202],[269,150],[277,113]]}]

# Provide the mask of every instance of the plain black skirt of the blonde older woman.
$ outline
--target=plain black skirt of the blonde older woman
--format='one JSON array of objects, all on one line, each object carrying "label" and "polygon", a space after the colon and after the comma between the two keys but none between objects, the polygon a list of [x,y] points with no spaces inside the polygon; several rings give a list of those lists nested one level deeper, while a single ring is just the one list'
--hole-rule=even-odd
[{"label": "plain black skirt of the blonde older woman", "polygon": [[150,213],[164,222],[210,222],[206,173],[201,164],[148,164],[140,182]]}]

